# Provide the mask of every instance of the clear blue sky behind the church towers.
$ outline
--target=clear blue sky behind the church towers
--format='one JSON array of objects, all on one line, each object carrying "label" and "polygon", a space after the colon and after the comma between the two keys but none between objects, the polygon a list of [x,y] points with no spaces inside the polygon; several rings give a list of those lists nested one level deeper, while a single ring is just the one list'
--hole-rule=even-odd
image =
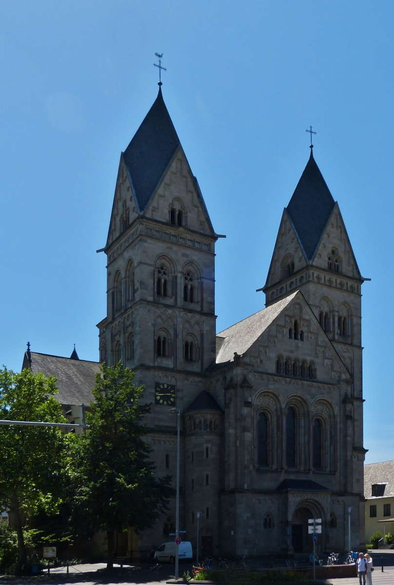
[{"label": "clear blue sky behind the church towers", "polygon": [[283,207],[314,154],[363,276],[368,463],[394,459],[394,3],[0,4],[1,363],[98,359],[122,150],[163,96],[218,233],[217,329],[263,307]]}]

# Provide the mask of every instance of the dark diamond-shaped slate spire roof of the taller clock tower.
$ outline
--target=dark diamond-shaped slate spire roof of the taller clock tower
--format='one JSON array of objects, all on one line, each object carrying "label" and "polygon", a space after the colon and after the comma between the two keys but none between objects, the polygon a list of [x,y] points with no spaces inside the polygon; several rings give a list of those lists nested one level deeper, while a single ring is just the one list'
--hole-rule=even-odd
[{"label": "dark diamond-shaped slate spire roof of the taller clock tower", "polygon": [[140,211],[148,204],[179,144],[159,87],[152,108],[122,155]]}]

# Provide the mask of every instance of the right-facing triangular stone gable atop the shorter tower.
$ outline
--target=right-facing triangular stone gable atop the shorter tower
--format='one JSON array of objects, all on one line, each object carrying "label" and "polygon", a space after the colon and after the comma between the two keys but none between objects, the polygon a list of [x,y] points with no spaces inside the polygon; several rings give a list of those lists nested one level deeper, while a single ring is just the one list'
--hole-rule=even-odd
[{"label": "right-facing triangular stone gable atop the shorter tower", "polygon": [[314,266],[326,269],[327,257],[333,247],[338,250],[338,254],[341,257],[341,274],[363,280],[337,202],[335,202],[333,212],[328,218],[326,228],[321,234],[314,253],[312,259]]}]

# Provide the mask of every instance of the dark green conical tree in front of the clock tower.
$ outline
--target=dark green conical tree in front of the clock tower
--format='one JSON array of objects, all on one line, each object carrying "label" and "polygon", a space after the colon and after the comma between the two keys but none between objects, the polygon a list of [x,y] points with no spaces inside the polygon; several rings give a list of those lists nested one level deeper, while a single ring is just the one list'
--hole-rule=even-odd
[{"label": "dark green conical tree in front of the clock tower", "polygon": [[156,477],[152,449],[143,441],[143,386],[133,385],[134,373],[117,366],[101,366],[87,413],[87,429],[78,445],[76,517],[94,531],[107,532],[107,568],[113,566],[114,532],[132,526],[152,527],[173,495],[170,476]]}]

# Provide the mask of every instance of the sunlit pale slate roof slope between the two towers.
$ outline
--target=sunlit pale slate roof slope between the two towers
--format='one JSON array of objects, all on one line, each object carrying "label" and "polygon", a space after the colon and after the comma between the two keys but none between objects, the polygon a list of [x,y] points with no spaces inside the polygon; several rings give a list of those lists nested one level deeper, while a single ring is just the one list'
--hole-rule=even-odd
[{"label": "sunlit pale slate roof slope between the two towers", "polygon": [[298,291],[293,292],[288,297],[274,302],[269,307],[262,309],[232,325],[228,329],[224,329],[217,333],[217,355],[216,363],[229,362],[234,360],[234,353],[242,355],[251,345],[259,338],[259,336],[267,329],[274,319],[283,311],[287,305],[293,300]]}]

